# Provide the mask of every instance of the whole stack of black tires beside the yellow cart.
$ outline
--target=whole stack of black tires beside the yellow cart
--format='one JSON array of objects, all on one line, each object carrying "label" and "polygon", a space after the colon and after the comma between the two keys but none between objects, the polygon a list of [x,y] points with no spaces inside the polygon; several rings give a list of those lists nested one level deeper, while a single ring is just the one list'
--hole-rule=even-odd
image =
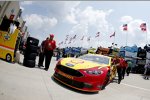
[{"label": "whole stack of black tires beside the yellow cart", "polygon": [[33,37],[28,37],[26,50],[24,53],[23,65],[26,67],[33,68],[36,64],[36,56],[38,55],[38,44],[39,40]]}]

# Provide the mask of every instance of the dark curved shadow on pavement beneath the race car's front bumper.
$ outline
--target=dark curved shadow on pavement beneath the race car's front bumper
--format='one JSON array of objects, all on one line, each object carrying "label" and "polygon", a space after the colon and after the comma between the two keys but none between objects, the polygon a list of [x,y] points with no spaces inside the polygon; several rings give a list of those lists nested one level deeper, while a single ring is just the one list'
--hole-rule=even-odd
[{"label": "dark curved shadow on pavement beneath the race car's front bumper", "polygon": [[63,83],[57,81],[56,79],[53,78],[53,76],[51,77],[51,79],[52,79],[55,83],[57,83],[58,85],[62,86],[63,88],[66,88],[66,89],[68,89],[68,90],[70,90],[70,91],[73,91],[73,92],[76,92],[76,93],[85,94],[85,95],[94,95],[94,94],[98,94],[98,93],[99,93],[99,92],[85,92],[85,91],[76,90],[76,89],[74,89],[74,88],[71,88],[71,87],[69,87],[69,86],[67,86],[67,85],[65,85],[65,84],[63,84]]}]

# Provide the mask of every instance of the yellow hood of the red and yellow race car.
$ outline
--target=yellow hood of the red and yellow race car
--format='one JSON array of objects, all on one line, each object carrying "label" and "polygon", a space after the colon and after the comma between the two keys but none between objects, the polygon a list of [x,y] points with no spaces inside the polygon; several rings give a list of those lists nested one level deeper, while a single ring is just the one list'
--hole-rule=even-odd
[{"label": "yellow hood of the red and yellow race car", "polygon": [[96,62],[82,60],[79,58],[64,58],[60,62],[61,65],[78,70],[78,69],[89,69],[93,67],[106,67],[106,64],[98,64]]}]

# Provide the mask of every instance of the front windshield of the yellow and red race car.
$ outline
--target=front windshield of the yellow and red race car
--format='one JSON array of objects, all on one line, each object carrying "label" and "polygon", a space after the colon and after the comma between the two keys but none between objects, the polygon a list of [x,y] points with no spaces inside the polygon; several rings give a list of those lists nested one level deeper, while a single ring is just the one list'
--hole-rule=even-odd
[{"label": "front windshield of the yellow and red race car", "polygon": [[93,61],[99,64],[109,65],[109,58],[105,56],[84,55],[84,56],[80,56],[79,58],[83,60]]}]

